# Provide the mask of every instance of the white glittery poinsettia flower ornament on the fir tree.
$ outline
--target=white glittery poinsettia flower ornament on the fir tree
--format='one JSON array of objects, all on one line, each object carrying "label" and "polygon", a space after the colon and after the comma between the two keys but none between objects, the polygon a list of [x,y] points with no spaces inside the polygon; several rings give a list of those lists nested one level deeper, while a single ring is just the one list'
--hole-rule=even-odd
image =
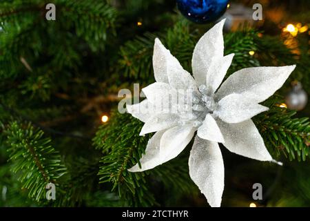
[{"label": "white glittery poinsettia flower ornament on the fir tree", "polygon": [[[153,56],[156,83],[143,88],[147,99],[127,106],[132,116],[145,122],[141,135],[156,132],[140,160],[141,167],[136,164],[129,171],[153,169],[172,160],[197,131],[189,156],[189,175],[211,206],[220,206],[224,189],[224,164],[218,142],[233,153],[273,161],[251,117],[268,110],[258,103],[273,95],[295,68],[245,68],[220,86],[234,57],[234,54],[224,56],[224,23],[225,20],[217,23],[198,41],[192,58],[194,78],[156,39]],[[175,100],[166,98],[176,91],[184,95],[185,90],[192,91],[190,108],[182,113],[154,111],[154,106],[164,100],[168,107],[177,106]]]}]

